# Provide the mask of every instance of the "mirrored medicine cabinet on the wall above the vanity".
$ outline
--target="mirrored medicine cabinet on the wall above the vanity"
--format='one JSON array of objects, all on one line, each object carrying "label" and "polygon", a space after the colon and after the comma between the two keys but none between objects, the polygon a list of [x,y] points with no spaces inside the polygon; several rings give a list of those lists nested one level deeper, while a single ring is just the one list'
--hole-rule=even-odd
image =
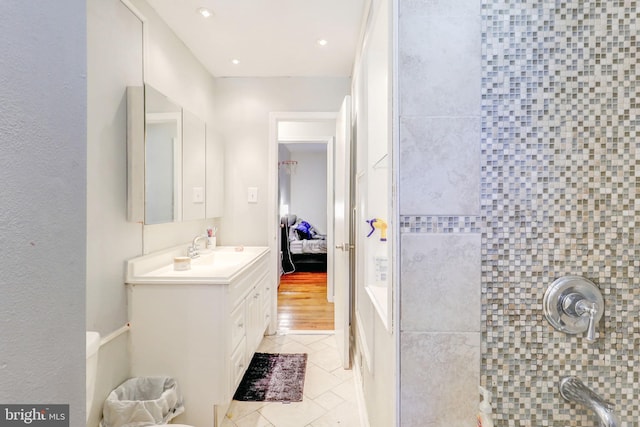
[{"label": "mirrored medicine cabinet on the wall above the vanity", "polygon": [[152,86],[127,88],[129,221],[221,216],[223,149],[197,114]]}]

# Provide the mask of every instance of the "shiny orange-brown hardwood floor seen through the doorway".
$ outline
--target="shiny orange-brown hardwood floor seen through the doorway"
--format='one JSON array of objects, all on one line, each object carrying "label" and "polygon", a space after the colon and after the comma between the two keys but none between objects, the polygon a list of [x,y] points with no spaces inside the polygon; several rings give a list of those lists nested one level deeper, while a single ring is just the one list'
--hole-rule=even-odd
[{"label": "shiny orange-brown hardwood floor seen through the doorway", "polygon": [[296,272],[280,277],[278,329],[333,330],[333,303],[327,301],[327,273]]}]

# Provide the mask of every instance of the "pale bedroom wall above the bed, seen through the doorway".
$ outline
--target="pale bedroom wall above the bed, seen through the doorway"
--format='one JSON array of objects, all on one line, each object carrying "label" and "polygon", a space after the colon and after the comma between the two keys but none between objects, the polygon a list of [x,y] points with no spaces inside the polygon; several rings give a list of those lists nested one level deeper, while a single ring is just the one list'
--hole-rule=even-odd
[{"label": "pale bedroom wall above the bed, seen through the doorway", "polygon": [[291,160],[298,165],[291,175],[289,211],[327,234],[327,151],[293,151]]}]

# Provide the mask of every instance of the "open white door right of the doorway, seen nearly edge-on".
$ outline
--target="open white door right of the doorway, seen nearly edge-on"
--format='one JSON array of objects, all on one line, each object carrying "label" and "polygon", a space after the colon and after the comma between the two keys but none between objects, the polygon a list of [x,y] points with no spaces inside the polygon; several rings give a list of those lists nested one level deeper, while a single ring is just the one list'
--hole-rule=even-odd
[{"label": "open white door right of the doorway, seen nearly edge-on", "polygon": [[334,168],[334,310],[335,336],[342,366],[351,366],[350,355],[350,176],[351,176],[351,97],[345,97],[336,120],[336,140],[333,150]]}]

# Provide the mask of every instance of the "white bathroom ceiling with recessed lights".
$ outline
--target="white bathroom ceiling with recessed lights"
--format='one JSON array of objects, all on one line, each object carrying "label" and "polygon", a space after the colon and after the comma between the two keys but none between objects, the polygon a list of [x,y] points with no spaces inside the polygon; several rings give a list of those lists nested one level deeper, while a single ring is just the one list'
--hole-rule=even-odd
[{"label": "white bathroom ceiling with recessed lights", "polygon": [[147,2],[213,76],[348,77],[368,0]]}]

